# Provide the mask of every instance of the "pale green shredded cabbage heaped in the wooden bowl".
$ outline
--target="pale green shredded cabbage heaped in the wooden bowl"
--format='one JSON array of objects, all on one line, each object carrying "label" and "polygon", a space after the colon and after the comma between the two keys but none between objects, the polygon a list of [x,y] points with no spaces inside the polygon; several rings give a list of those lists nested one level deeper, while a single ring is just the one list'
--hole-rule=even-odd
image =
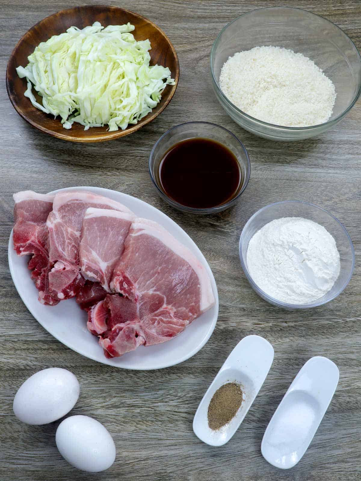
[{"label": "pale green shredded cabbage heaped in the wooden bowl", "polygon": [[137,42],[133,30],[129,23],[104,28],[95,22],[41,42],[26,67],[16,69],[27,79],[24,95],[46,114],[60,115],[64,128],[78,122],[84,130],[107,124],[113,131],[136,124],[175,82],[168,67],[149,65],[150,41]]}]

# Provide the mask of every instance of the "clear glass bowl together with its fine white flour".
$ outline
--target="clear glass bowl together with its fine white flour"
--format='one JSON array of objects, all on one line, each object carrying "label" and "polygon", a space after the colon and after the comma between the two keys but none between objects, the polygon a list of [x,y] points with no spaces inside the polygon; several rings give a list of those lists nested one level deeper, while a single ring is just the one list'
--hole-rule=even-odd
[{"label": "clear glass bowl together with its fine white flour", "polygon": [[307,202],[277,202],[245,224],[239,256],[252,288],[285,309],[306,309],[335,299],[355,265],[350,236],[330,213]]}]

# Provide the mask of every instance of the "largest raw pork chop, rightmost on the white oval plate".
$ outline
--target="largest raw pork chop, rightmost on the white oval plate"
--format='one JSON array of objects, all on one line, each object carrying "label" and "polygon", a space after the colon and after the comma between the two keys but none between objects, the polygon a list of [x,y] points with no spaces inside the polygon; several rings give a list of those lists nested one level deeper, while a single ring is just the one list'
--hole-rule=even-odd
[{"label": "largest raw pork chop, rightmost on the white oval plate", "polygon": [[165,342],[214,304],[204,266],[156,222],[136,218],[107,295],[88,312],[88,329],[108,356]]}]

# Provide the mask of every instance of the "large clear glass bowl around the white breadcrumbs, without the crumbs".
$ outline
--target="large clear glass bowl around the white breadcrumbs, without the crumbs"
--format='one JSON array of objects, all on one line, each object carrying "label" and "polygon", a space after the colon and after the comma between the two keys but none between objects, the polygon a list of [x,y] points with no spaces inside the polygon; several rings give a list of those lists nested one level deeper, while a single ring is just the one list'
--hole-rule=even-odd
[{"label": "large clear glass bowl around the white breadcrumbs, without the crumbs", "polygon": [[[302,53],[333,81],[337,97],[330,120],[310,127],[281,127],[245,114],[224,95],[219,87],[223,64],[236,52],[262,45]],[[361,57],[352,40],[329,20],[299,8],[261,8],[236,18],[216,38],[210,66],[213,89],[227,114],[265,139],[290,141],[319,135],[342,120],[361,93]]]}]

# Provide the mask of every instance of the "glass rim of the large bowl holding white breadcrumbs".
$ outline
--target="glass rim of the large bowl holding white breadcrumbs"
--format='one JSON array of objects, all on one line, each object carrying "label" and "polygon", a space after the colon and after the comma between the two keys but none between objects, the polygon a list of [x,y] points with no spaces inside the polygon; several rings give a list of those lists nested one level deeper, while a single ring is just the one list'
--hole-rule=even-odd
[{"label": "glass rim of the large bowl holding white breadcrumbs", "polygon": [[337,115],[337,117],[335,117],[334,119],[331,119],[331,120],[328,120],[327,122],[324,122],[323,124],[317,124],[317,125],[310,125],[308,127],[286,127],[286,126],[282,126],[282,125],[275,125],[275,124],[270,124],[269,122],[264,122],[263,120],[259,120],[255,117],[252,117],[251,115],[248,115],[246,114],[243,110],[239,109],[236,105],[234,105],[234,103],[232,103],[228,97],[226,97],[224,95],[224,93],[222,92],[222,90],[220,89],[219,85],[218,85],[218,82],[216,80],[216,77],[214,76],[214,72],[213,72],[213,67],[212,67],[212,59],[215,57],[215,48],[219,42],[219,38],[220,36],[222,35],[222,33],[230,26],[232,25],[233,22],[236,22],[237,20],[239,20],[241,17],[245,16],[245,15],[249,15],[251,13],[255,13],[255,12],[258,12],[260,10],[279,10],[279,9],[288,9],[288,10],[300,10],[301,12],[307,12],[311,15],[314,15],[315,17],[320,17],[322,18],[322,20],[324,20],[325,22],[328,22],[332,25],[334,25],[336,28],[338,28],[339,30],[341,30],[341,32],[349,39],[349,41],[352,43],[352,45],[355,47],[355,50],[359,56],[359,61],[361,63],[361,55],[360,55],[360,52],[357,50],[357,47],[356,45],[354,44],[354,42],[351,40],[351,38],[348,37],[348,35],[342,30],[342,28],[340,28],[338,25],[334,24],[333,22],[331,22],[331,20],[328,20],[327,18],[324,18],[322,17],[321,15],[318,15],[317,13],[313,13],[313,12],[309,12],[309,10],[305,10],[303,8],[297,8],[297,7],[264,7],[264,8],[257,8],[257,9],[254,9],[254,10],[251,10],[249,12],[246,12],[246,13],[243,13],[242,15],[240,15],[239,17],[235,18],[234,20],[232,20],[232,22],[229,22],[227,25],[225,25],[222,30],[219,32],[219,34],[217,35],[217,38],[215,39],[215,41],[213,42],[213,45],[212,45],[212,49],[211,49],[211,54],[210,54],[210,69],[211,69],[211,73],[212,73],[212,80],[213,80],[213,84],[215,85],[219,95],[222,97],[222,99],[227,102],[233,109],[236,110],[236,112],[238,112],[239,114],[242,114],[244,115],[245,117],[247,117],[248,119],[254,121],[254,122],[258,122],[259,124],[261,125],[264,125],[264,126],[267,126],[267,127],[276,127],[276,128],[279,128],[279,129],[283,129],[283,130],[311,130],[311,129],[315,129],[317,127],[322,127],[322,126],[326,126],[328,124],[334,124],[335,122],[337,122],[338,120],[340,120],[342,117],[344,117],[348,112],[349,110],[355,105],[355,103],[358,101],[359,97],[360,97],[360,94],[361,94],[361,77],[359,78],[359,90],[358,92],[356,93],[353,101],[349,104],[349,106],[339,115]]}]

